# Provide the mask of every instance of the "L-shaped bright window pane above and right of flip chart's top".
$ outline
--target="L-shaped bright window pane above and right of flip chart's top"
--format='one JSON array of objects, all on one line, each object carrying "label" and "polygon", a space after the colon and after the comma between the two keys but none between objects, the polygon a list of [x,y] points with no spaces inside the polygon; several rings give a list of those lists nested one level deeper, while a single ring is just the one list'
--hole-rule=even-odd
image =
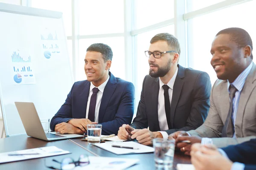
[{"label": "L-shaped bright window pane above and right of flip chart's top", "polygon": [[62,12],[66,36],[72,35],[71,0],[32,0],[32,7]]}]

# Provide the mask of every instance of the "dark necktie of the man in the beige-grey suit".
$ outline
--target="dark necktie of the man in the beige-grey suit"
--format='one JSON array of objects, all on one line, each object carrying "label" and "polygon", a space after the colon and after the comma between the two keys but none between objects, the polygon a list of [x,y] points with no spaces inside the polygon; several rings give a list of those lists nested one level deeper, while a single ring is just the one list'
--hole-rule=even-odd
[{"label": "dark necktie of the man in the beige-grey suit", "polygon": [[[230,85],[229,91],[230,91],[230,108],[228,110],[226,122],[222,129],[222,137],[227,137],[227,129],[230,126],[232,127],[232,134],[234,134],[234,124],[233,124],[231,115],[233,112],[233,98],[235,97],[237,89],[233,85]],[[230,136],[230,137],[232,137],[232,136]]]}]

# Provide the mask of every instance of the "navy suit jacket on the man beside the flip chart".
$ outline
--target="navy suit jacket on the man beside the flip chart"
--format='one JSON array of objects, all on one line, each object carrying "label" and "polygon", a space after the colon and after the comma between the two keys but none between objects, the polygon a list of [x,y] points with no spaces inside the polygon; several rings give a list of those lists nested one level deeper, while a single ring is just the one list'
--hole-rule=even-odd
[{"label": "navy suit jacket on the man beside the flip chart", "polygon": [[[131,124],[134,113],[134,85],[131,82],[116,78],[109,72],[109,80],[105,86],[99,108],[99,124],[102,135],[116,134],[123,124]],[[86,117],[87,99],[90,82],[75,82],[67,95],[65,103],[52,118],[50,127],[75,118]]]}]

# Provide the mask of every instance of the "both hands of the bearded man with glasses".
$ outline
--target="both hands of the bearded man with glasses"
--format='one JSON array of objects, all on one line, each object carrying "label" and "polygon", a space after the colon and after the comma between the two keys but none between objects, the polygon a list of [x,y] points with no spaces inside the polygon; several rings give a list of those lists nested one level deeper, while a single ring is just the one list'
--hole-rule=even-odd
[{"label": "both hands of the bearded man with glasses", "polygon": [[160,138],[160,132],[151,132],[148,129],[134,129],[130,125],[122,125],[119,127],[117,136],[119,139],[137,139],[140,144],[152,145],[152,139]]}]

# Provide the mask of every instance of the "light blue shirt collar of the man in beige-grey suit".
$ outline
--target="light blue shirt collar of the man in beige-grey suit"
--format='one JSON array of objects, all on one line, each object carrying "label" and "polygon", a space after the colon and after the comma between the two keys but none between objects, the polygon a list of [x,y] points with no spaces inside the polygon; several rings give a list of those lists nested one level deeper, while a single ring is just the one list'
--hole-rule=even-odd
[{"label": "light blue shirt collar of the man in beige-grey suit", "polygon": [[241,74],[239,74],[238,77],[236,77],[236,79],[235,79],[235,81],[233,83],[230,83],[227,80],[227,91],[229,91],[228,89],[229,89],[230,84],[235,86],[235,88],[238,91],[241,91],[243,89],[243,87],[244,87],[245,80],[246,80],[248,74],[250,73],[250,70],[251,70],[252,67],[253,67],[253,62],[251,62],[250,65],[248,65],[248,67],[245,68],[245,70],[243,72],[241,72]]}]

